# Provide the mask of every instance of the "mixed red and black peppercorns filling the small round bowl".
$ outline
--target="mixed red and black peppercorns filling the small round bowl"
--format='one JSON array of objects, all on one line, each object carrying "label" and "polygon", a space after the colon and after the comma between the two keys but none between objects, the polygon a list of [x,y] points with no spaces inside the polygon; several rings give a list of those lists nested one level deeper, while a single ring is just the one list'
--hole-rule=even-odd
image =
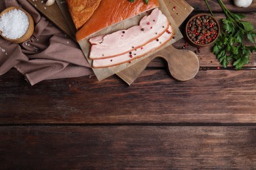
[{"label": "mixed red and black peppercorns filling the small round bowl", "polygon": [[193,18],[187,27],[188,38],[196,44],[209,44],[218,35],[217,23],[211,16],[202,15]]}]

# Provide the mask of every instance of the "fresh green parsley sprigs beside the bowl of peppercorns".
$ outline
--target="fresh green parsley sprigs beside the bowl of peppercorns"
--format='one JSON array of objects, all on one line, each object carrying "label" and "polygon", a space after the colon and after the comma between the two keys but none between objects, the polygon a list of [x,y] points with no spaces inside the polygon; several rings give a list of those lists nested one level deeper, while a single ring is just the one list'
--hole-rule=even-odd
[{"label": "fresh green parsley sprigs beside the bowl of peppercorns", "polygon": [[[230,12],[230,10],[226,9],[223,1],[218,0],[218,2],[226,15],[226,19],[223,19],[224,31],[221,31],[213,46],[213,53],[224,68],[227,67],[230,60],[233,60],[234,67],[239,70],[249,63],[250,54],[256,51],[255,46],[246,46],[244,44],[245,39],[255,42],[256,32],[251,22],[242,20],[245,18],[243,14]],[[209,8],[207,0],[205,0],[205,3]],[[209,10],[211,11],[211,9]]]}]

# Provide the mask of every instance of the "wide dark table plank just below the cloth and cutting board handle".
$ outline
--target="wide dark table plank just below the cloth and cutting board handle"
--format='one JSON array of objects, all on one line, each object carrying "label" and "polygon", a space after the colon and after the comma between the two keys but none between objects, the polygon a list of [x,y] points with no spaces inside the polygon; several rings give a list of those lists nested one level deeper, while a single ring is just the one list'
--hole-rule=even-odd
[{"label": "wide dark table plank just below the cloth and cutting board handle", "polygon": [[0,124],[256,123],[256,70],[201,70],[178,82],[153,69],[131,87],[116,76],[30,86],[12,70],[0,84]]}]

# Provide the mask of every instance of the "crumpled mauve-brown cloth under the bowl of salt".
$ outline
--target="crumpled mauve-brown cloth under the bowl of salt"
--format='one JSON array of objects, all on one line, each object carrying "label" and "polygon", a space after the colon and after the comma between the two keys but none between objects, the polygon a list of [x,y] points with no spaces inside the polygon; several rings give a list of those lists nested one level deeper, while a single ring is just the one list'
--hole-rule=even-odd
[{"label": "crumpled mauve-brown cloth under the bowl of salt", "polygon": [[42,80],[93,75],[77,42],[44,18],[26,0],[0,1],[0,11],[22,7],[35,22],[32,37],[21,44],[0,38],[0,75],[15,67],[34,85]]}]

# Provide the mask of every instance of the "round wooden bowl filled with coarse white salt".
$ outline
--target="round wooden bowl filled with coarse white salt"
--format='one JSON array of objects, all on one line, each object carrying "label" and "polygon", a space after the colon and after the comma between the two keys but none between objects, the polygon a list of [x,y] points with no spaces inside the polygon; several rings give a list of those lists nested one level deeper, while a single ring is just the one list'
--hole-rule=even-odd
[{"label": "round wooden bowl filled with coarse white salt", "polygon": [[9,7],[0,13],[0,35],[12,43],[30,39],[34,31],[33,18],[20,7]]}]

